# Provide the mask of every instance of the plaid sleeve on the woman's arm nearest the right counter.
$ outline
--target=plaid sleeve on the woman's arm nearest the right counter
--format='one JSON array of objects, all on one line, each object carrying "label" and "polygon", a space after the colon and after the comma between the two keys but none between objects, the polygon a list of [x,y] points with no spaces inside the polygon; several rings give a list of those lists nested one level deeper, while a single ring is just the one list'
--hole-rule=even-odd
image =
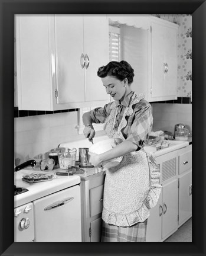
[{"label": "plaid sleeve on the woman's arm nearest the right counter", "polygon": [[135,118],[130,128],[130,133],[127,136],[127,140],[135,143],[138,149],[143,148],[146,136],[152,130],[153,117],[152,107],[146,101],[137,108],[134,109]]}]

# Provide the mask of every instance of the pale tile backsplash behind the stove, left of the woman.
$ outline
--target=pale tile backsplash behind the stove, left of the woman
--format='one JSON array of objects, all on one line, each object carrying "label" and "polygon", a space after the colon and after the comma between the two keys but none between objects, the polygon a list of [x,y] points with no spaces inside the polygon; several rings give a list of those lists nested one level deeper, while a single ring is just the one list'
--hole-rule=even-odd
[{"label": "pale tile backsplash behind the stove, left of the woman", "polygon": [[[45,152],[57,148],[60,143],[85,139],[76,129],[77,111],[67,113],[26,116],[14,119],[15,164],[28,158],[45,158]],[[105,135],[103,131],[96,136]]]}]

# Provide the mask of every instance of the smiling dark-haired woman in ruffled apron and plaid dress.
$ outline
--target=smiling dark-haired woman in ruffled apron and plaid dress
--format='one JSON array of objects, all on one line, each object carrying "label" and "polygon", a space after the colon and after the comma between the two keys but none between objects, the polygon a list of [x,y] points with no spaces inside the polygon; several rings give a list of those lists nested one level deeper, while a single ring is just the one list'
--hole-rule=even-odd
[{"label": "smiling dark-haired woman in ruffled apron and plaid dress", "polygon": [[123,139],[107,152],[89,152],[96,167],[123,156],[119,165],[106,170],[102,242],[145,242],[149,209],[161,193],[159,169],[153,155],[143,151],[152,129],[151,105],[130,88],[134,72],[126,61],[109,62],[97,75],[114,101],[83,114],[84,135],[91,140],[95,135],[92,123],[104,123],[107,136]]}]

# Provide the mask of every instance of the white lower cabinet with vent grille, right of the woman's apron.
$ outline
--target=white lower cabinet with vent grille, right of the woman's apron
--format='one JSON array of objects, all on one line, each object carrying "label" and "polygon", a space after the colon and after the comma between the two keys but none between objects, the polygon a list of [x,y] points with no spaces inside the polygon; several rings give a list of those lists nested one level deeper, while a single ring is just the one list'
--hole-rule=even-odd
[{"label": "white lower cabinet with vent grille, right of the woman's apron", "polygon": [[192,145],[158,156],[162,193],[148,218],[146,242],[162,242],[192,216]]}]

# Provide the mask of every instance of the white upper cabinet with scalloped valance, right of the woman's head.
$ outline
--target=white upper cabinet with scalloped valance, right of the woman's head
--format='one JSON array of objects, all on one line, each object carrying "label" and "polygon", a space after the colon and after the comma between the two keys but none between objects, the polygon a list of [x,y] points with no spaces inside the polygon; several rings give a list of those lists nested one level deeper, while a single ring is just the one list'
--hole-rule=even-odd
[{"label": "white upper cabinet with scalloped valance, right of the woman's head", "polygon": [[109,15],[120,27],[120,59],[135,71],[132,89],[149,102],[176,100],[178,25],[152,15]]}]

